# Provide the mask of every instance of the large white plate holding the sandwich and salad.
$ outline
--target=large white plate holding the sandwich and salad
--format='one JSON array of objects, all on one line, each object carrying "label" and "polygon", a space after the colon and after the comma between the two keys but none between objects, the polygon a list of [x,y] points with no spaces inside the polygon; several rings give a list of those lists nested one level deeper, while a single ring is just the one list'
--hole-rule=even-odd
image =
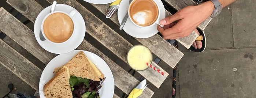
[{"label": "large white plate holding the sandwich and salad", "polygon": [[97,68],[104,74],[106,79],[102,83],[102,87],[99,90],[100,98],[112,98],[114,95],[114,78],[110,68],[107,63],[99,56],[94,53],[85,51],[85,50],[74,50],[69,53],[59,54],[55,58],[53,58],[44,68],[42,72],[40,82],[39,82],[39,93],[40,98],[45,98],[44,96],[44,84],[46,84],[53,77],[54,68],[61,67],[70,61],[78,52],[83,51],[85,55],[96,65]]}]

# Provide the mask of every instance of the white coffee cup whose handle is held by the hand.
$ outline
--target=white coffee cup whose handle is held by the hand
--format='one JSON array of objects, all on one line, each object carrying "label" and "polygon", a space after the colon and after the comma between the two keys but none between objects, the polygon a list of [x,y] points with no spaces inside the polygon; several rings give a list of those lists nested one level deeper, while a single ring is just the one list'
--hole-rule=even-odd
[{"label": "white coffee cup whose handle is held by the hand", "polygon": [[[156,4],[157,9],[158,9],[158,15],[157,15],[157,18],[156,18],[155,22],[153,22],[152,24],[150,24],[150,25],[148,25],[148,26],[140,26],[140,25],[136,24],[136,23],[133,21],[133,18],[132,18],[131,14],[130,14],[130,8],[131,8],[131,5],[133,4],[134,1],[136,1],[136,0],[131,1],[130,5],[129,5],[129,8],[128,8],[128,15],[129,15],[129,18],[131,19],[131,22],[132,22],[134,25],[136,25],[136,26],[138,26],[138,27],[141,27],[141,28],[148,28],[148,27],[151,27],[151,26],[153,26],[153,25],[157,25],[157,24],[158,24],[158,25],[160,25],[161,27],[163,27],[163,25],[161,25],[161,24],[159,23],[159,21],[160,21],[160,19],[159,19],[159,17],[160,17],[160,8],[159,8],[159,5],[156,3],[155,0],[152,0],[152,1]],[[139,16],[139,17],[142,17],[142,16]],[[140,18],[138,18],[138,19],[140,19]],[[145,18],[144,18],[144,19],[145,19]],[[142,20],[142,21],[143,21],[143,20]]]}]

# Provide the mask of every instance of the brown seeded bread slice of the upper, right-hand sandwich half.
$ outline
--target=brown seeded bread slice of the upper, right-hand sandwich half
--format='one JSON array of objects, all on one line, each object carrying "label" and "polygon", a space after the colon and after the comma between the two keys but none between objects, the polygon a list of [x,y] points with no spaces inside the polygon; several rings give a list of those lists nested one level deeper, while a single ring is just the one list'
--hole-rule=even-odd
[{"label": "brown seeded bread slice of the upper, right-hand sandwich half", "polygon": [[[77,55],[64,66],[69,68],[71,76],[100,81],[99,77],[94,72],[94,69],[89,64],[89,61],[86,59],[84,52],[77,53]],[[58,72],[59,69],[60,68],[55,68],[53,73]]]}]

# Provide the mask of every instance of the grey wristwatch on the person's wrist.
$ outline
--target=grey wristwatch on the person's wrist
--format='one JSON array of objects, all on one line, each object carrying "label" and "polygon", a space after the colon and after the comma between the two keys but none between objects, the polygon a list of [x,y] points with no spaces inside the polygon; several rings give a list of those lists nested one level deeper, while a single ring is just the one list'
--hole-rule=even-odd
[{"label": "grey wristwatch on the person's wrist", "polygon": [[209,1],[212,1],[212,3],[214,3],[214,11],[212,11],[211,17],[215,18],[220,14],[222,10],[222,5],[219,3],[218,0],[209,0]]}]

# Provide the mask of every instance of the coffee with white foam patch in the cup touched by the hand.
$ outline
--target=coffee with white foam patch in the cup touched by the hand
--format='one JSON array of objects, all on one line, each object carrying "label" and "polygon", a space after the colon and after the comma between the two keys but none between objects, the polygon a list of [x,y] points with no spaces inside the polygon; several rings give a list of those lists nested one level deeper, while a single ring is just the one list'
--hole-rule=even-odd
[{"label": "coffee with white foam patch in the cup touched by the hand", "polygon": [[149,26],[158,17],[158,8],[152,0],[135,0],[130,5],[131,20],[139,26]]}]

